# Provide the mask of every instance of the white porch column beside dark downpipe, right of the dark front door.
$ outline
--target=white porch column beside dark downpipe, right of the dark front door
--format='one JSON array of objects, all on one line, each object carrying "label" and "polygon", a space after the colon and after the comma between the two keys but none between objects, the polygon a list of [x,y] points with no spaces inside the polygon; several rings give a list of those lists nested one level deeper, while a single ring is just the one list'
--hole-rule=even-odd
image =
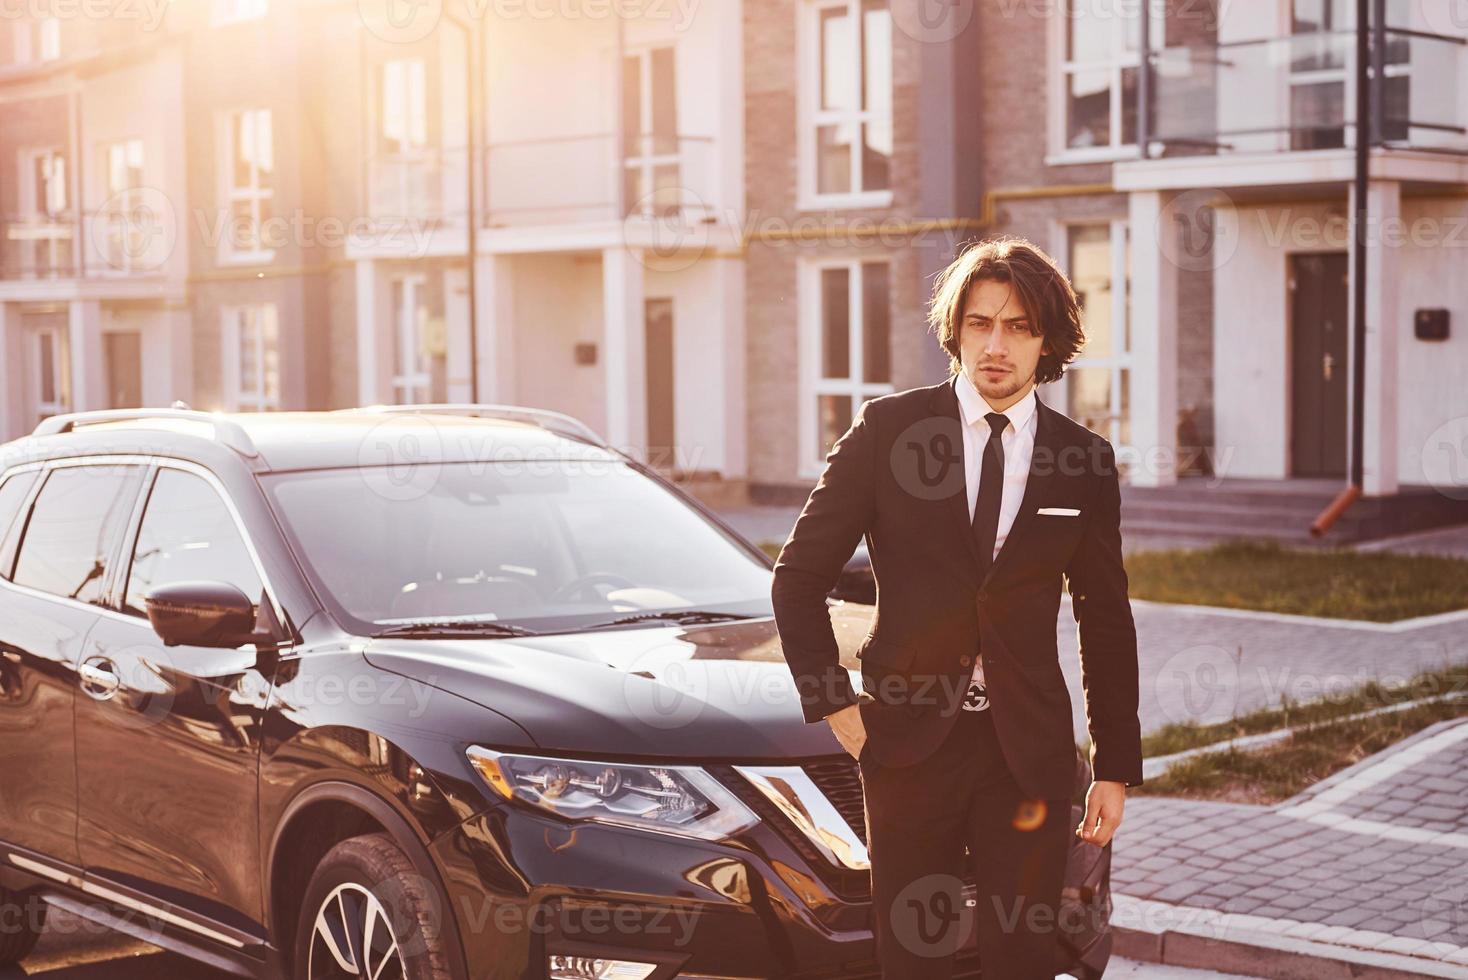
[{"label": "white porch column beside dark downpipe, right of the dark front door", "polygon": [[[1355,213],[1355,185],[1351,188]],[[1402,185],[1396,180],[1367,183],[1367,356],[1365,430],[1361,452],[1361,490],[1368,497],[1398,491],[1398,337],[1406,327],[1398,307],[1402,277]],[[1351,252],[1355,263],[1355,249]],[[1352,304],[1353,307],[1353,304]],[[1346,364],[1355,371],[1355,317]],[[1351,377],[1355,377],[1352,373]],[[1353,398],[1353,395],[1352,395]],[[1352,409],[1353,411],[1353,409]]]}]

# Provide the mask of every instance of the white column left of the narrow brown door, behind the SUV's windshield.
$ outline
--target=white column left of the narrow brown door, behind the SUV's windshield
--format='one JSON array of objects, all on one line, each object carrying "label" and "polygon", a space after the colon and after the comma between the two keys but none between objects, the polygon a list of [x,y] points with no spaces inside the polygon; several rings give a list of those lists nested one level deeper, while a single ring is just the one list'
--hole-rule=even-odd
[{"label": "white column left of the narrow brown door, behind the SUV's windshield", "polygon": [[647,453],[647,323],[643,267],[628,248],[602,251],[602,318],[606,376],[606,440],[646,459]]}]

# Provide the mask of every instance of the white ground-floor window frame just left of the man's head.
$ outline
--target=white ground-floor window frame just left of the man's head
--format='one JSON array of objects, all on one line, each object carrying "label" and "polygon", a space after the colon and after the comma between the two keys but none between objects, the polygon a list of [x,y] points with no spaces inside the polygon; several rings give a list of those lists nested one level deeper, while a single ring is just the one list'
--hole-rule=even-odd
[{"label": "white ground-floor window frame just left of the man's head", "polygon": [[[888,283],[894,283],[894,264],[891,258],[825,258],[800,260],[797,268],[799,283],[799,334],[800,334],[800,381],[799,381],[799,424],[800,436],[796,440],[800,452],[797,474],[802,478],[813,480],[825,468],[825,453],[816,440],[816,402],[822,395],[849,395],[851,398],[851,418],[856,418],[862,405],[876,398],[888,395],[895,389],[891,381],[863,381],[863,356],[866,345],[863,342],[865,315],[862,302],[862,266],[887,266]],[[822,340],[822,310],[821,310],[821,273],[828,268],[844,268],[849,271],[847,310],[851,311],[849,326],[850,371],[846,379],[821,377],[821,340]]]}]

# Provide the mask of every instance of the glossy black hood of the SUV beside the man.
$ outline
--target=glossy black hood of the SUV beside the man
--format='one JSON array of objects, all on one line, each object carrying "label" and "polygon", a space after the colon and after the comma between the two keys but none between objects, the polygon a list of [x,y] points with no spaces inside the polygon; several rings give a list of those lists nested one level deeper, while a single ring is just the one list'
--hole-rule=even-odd
[{"label": "glossy black hood of the SUV beside the man", "polygon": [[[841,663],[872,607],[831,607]],[[807,725],[774,619],[640,626],[495,640],[374,640],[392,670],[498,712],[540,751],[696,761],[794,758],[841,751],[828,725]],[[859,676],[853,682],[860,685]]]}]

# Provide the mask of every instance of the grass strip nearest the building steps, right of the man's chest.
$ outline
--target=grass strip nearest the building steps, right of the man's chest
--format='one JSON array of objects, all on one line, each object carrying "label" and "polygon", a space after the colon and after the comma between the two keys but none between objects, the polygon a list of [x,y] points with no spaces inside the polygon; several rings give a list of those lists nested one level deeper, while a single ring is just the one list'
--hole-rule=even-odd
[{"label": "grass strip nearest the building steps, right of the man's chest", "polygon": [[1468,560],[1229,541],[1133,552],[1132,599],[1393,622],[1468,607]]}]

